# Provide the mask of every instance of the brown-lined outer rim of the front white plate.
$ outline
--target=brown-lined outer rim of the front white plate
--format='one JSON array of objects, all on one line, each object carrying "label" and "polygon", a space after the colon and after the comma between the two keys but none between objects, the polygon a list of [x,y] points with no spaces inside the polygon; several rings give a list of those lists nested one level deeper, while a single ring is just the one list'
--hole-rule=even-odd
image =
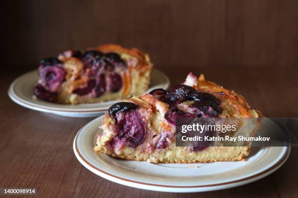
[{"label": "brown-lined outer rim of the front white plate", "polygon": [[[99,117],[102,117],[104,115],[101,115]],[[95,119],[99,119],[99,117],[95,118]],[[95,119],[93,119],[92,121],[94,121]],[[92,121],[90,121],[89,123],[91,123]],[[87,123],[86,125],[88,125],[89,123]],[[85,125],[85,126],[86,126]],[[122,184],[122,185],[127,185],[127,186],[131,186],[131,187],[135,187],[135,188],[141,188],[141,189],[146,189],[146,190],[157,190],[157,191],[163,191],[163,192],[204,192],[204,191],[212,191],[212,190],[220,190],[220,189],[226,189],[226,188],[231,188],[231,187],[236,187],[236,186],[240,186],[243,184],[247,184],[253,181],[257,181],[260,180],[268,175],[270,175],[271,173],[273,173],[274,171],[276,171],[277,169],[279,169],[279,167],[281,167],[286,160],[288,159],[289,155],[290,155],[290,151],[291,151],[291,147],[290,146],[285,146],[286,150],[283,154],[283,156],[279,159],[278,162],[276,162],[275,164],[271,165],[270,167],[268,167],[267,169],[248,176],[248,177],[244,177],[242,179],[237,179],[237,180],[233,180],[233,181],[226,181],[226,182],[221,182],[221,183],[215,183],[215,184],[204,184],[204,185],[191,185],[191,186],[179,186],[179,185],[164,185],[164,184],[154,184],[154,183],[147,183],[147,182],[142,182],[142,181],[135,181],[135,180],[130,180],[127,178],[123,178],[123,177],[119,177],[117,175],[113,175],[109,172],[106,172],[96,166],[94,166],[93,164],[91,164],[80,152],[79,148],[78,148],[78,135],[83,131],[83,129],[85,128],[82,127],[75,135],[74,138],[74,143],[73,143],[73,149],[74,149],[74,153],[76,158],[78,159],[78,161],[85,166],[87,169],[89,169],[90,171],[92,171],[94,174]],[[96,171],[99,171],[101,174],[98,174]],[[123,183],[125,182],[125,183]],[[141,186],[140,186],[141,185]],[[151,189],[152,187],[156,188],[156,189]]]}]

